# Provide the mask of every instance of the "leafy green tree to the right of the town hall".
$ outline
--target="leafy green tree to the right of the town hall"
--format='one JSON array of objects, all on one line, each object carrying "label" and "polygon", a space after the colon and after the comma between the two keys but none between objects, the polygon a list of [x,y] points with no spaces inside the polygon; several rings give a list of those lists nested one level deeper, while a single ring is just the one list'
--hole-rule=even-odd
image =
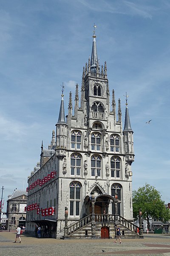
[{"label": "leafy green tree to the right of the town hall", "polygon": [[142,211],[143,219],[147,220],[147,227],[150,230],[149,218],[161,218],[162,221],[170,220],[170,211],[164,206],[160,192],[154,186],[145,184],[133,191],[133,218],[137,219],[139,209]]}]

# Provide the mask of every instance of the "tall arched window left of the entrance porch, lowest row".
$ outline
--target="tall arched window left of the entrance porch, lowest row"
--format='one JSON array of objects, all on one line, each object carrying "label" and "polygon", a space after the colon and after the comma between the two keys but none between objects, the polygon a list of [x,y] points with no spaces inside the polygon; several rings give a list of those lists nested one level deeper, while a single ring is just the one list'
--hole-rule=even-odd
[{"label": "tall arched window left of the entrance porch, lowest row", "polygon": [[81,199],[81,184],[77,181],[70,183],[70,215],[79,216]]}]

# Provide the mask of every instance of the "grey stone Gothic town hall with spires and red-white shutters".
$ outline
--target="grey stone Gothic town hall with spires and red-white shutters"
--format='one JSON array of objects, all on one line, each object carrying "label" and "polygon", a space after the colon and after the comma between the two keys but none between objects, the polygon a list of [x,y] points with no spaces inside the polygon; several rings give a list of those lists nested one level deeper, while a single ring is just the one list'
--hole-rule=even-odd
[{"label": "grey stone Gothic town hall with spires and red-white shutters", "polygon": [[65,116],[62,90],[56,133],[48,149],[42,143],[40,163],[28,177],[29,233],[35,224],[57,239],[113,238],[115,223],[132,229],[134,152],[127,97],[122,121],[120,99],[116,111],[114,90],[110,95],[106,62],[99,65],[95,30],[80,92],[79,98],[76,84],[74,105],[70,92]]}]

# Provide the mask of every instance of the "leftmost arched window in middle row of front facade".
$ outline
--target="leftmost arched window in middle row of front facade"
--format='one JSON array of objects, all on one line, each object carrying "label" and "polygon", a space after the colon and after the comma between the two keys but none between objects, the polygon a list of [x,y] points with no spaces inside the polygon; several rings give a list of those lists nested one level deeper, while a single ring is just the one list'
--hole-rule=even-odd
[{"label": "leftmost arched window in middle row of front facade", "polygon": [[71,154],[71,175],[80,176],[81,173],[81,155],[80,154]]}]

